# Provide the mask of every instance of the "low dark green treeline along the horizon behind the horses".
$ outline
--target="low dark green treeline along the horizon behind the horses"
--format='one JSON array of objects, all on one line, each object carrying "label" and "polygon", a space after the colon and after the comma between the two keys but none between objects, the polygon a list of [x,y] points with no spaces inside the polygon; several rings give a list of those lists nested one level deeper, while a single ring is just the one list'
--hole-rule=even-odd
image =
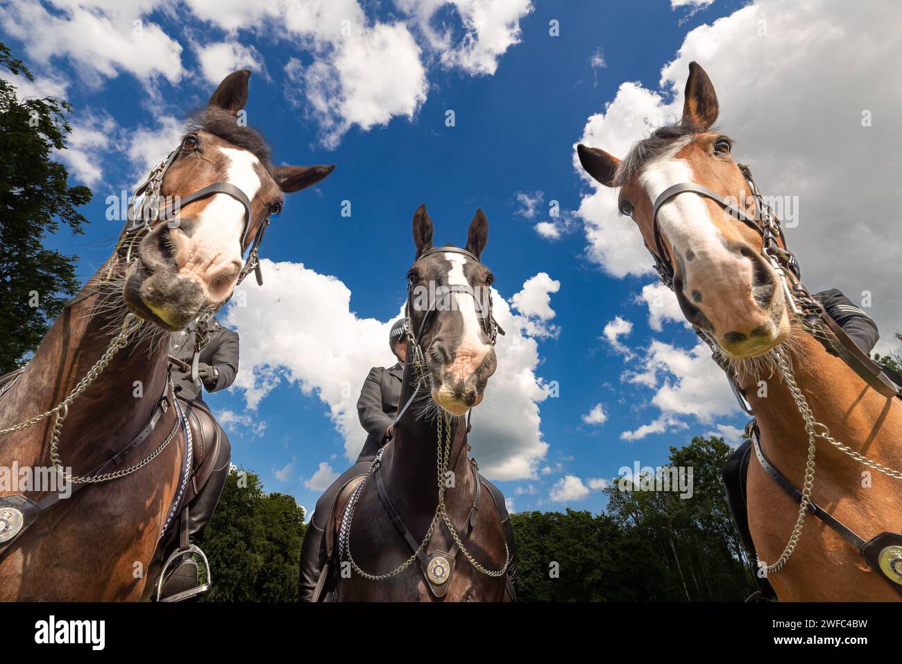
[{"label": "low dark green treeline along the horizon behind the horses", "polygon": [[[605,489],[608,508],[511,516],[521,602],[741,602],[754,582],[723,500],[731,453],[717,437],[670,448],[693,469],[692,498],[676,491]],[[253,472],[233,472],[203,548],[212,602],[293,602],[298,595],[304,510],[267,494]]]}]

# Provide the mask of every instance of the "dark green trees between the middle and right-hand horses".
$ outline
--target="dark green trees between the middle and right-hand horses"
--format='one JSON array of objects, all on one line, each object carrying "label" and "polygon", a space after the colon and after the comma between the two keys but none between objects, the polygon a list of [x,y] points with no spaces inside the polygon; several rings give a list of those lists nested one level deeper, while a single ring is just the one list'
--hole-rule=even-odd
[{"label": "dark green trees between the middle and right-hand horses", "polygon": [[621,491],[618,478],[601,514],[512,515],[520,601],[744,600],[756,588],[720,478],[731,453],[718,437],[670,448],[669,465],[693,468],[686,500],[676,491]]}]

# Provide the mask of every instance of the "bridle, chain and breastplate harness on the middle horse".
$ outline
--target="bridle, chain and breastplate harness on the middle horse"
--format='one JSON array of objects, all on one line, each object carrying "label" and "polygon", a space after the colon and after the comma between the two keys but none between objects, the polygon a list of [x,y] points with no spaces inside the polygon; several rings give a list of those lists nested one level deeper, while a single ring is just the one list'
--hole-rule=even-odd
[{"label": "bridle, chain and breastplate harness on the middle horse", "polygon": [[[470,251],[457,247],[436,247],[428,249],[422,255],[418,257],[422,259],[424,257],[438,254],[452,252],[457,254],[462,254],[465,257],[471,258],[477,263],[479,259]],[[450,296],[455,293],[463,293],[465,295],[472,295],[474,299],[474,305],[477,307],[476,313],[479,318],[483,321],[483,332],[487,335],[489,342],[492,346],[498,340],[498,334],[504,334],[501,326],[495,321],[494,316],[492,314],[492,296],[491,291],[488,297],[488,303],[485,307],[480,301],[480,298],[477,297],[477,293],[475,289],[471,285],[448,285],[444,286],[446,288],[446,295]],[[421,341],[423,337],[423,332],[426,329],[426,323],[429,318],[429,314],[433,311],[436,311],[437,299],[430,302],[426,313],[423,314],[423,319],[419,322],[419,328],[417,333],[413,333],[413,324],[412,319],[410,318],[410,301],[413,299],[413,285],[408,286],[408,301],[405,306],[405,315],[404,315],[404,328],[401,332],[401,335],[404,336],[408,341],[408,351],[410,352],[410,361],[412,365],[417,369],[422,369],[426,366],[426,355],[422,349]],[[431,375],[430,375],[431,381]],[[419,394],[420,388],[423,387],[423,379],[420,378],[417,382],[416,388],[413,390],[413,394],[407,400],[403,407],[398,411],[398,415],[395,416],[394,421],[391,423],[391,426],[395,426],[400,421],[401,416],[407,411],[410,407],[410,404],[413,403],[414,399]],[[469,420],[469,416],[472,415],[472,408],[468,413],[467,418],[467,426],[466,431],[469,433],[471,431],[471,424]],[[445,441],[443,444],[443,425],[445,432]],[[438,479],[438,504],[436,507],[436,514],[432,519],[432,523],[428,528],[428,532],[426,533],[426,537],[423,538],[421,542],[417,542],[415,538],[410,534],[410,528],[404,523],[404,519],[401,518],[400,513],[392,504],[391,499],[389,498],[388,492],[385,491],[385,484],[382,481],[382,454],[385,453],[385,450],[388,448],[388,445],[391,444],[391,441],[388,444],[382,446],[379,452],[376,454],[373,463],[371,464],[369,470],[364,476],[364,481],[360,482],[357,487],[354,489],[351,494],[351,498],[348,500],[345,505],[345,510],[342,513],[341,517],[341,525],[338,531],[338,549],[337,556],[339,561],[347,561],[354,568],[354,571],[363,576],[366,579],[371,581],[383,581],[391,578],[392,576],[400,574],[404,569],[412,565],[415,561],[419,563],[420,571],[423,574],[427,582],[427,587],[429,589],[430,594],[432,594],[436,598],[442,598],[445,596],[447,592],[447,582],[451,578],[451,575],[454,574],[456,567],[456,556],[458,553],[463,553],[464,556],[469,560],[471,565],[473,565],[479,572],[483,575],[487,576],[505,576],[505,588],[507,593],[511,596],[511,598],[516,597],[516,594],[513,589],[512,581],[510,575],[507,575],[507,569],[511,562],[511,551],[507,547],[507,542],[505,541],[505,557],[504,557],[504,565],[501,569],[498,570],[489,570],[483,567],[481,564],[475,561],[474,557],[470,555],[469,551],[467,551],[465,547],[465,542],[470,538],[470,535],[473,533],[473,530],[476,526],[476,519],[479,515],[479,500],[482,495],[482,479],[479,476],[478,467],[476,462],[471,459],[469,461],[470,470],[473,472],[474,478],[474,498],[473,504],[470,508],[470,512],[466,519],[466,530],[464,537],[460,537],[457,534],[456,528],[454,524],[451,522],[451,519],[448,517],[446,509],[445,509],[445,481],[446,481],[446,472],[447,472],[447,464],[448,457],[451,452],[451,422],[450,419],[446,416],[439,415],[437,416],[437,479]],[[351,538],[351,524],[354,519],[354,509],[357,505],[358,500],[360,500],[361,495],[364,491],[364,486],[371,476],[374,476],[376,489],[379,494],[379,499],[382,501],[382,507],[388,513],[389,517],[391,517],[392,523],[394,523],[395,528],[398,529],[400,535],[407,542],[408,546],[412,550],[413,554],[408,558],[404,563],[400,566],[393,569],[391,572],[382,575],[372,575],[367,572],[364,572],[359,566],[357,566],[356,562],[354,562],[354,556],[351,554],[350,549],[350,538]],[[437,527],[437,524],[440,519],[445,521],[446,528],[451,534],[451,537],[454,539],[454,545],[449,548],[448,551],[442,550],[434,550],[431,553],[426,552],[426,547],[428,545],[429,540],[432,538],[432,535]],[[322,584],[318,584],[318,590],[321,588]],[[315,591],[314,596],[317,596],[318,591]],[[336,594],[336,588],[333,589],[333,594]]]}]

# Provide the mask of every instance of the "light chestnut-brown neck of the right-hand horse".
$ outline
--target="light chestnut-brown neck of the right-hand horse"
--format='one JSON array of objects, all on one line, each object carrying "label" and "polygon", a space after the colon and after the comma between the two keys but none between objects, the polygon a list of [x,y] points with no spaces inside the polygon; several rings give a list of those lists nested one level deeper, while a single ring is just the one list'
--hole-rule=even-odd
[{"label": "light chestnut-brown neck of the right-hand horse", "polygon": [[[811,334],[801,330],[793,334],[787,356],[815,421],[851,449],[891,467],[902,467],[902,447],[898,445],[902,400],[881,396]],[[769,375],[743,377],[740,385],[755,412],[765,454],[791,480],[800,481],[808,435],[785,379],[773,369]],[[834,474],[846,483],[850,469],[856,473],[866,470],[823,439],[817,440],[816,447],[821,476]]]}]

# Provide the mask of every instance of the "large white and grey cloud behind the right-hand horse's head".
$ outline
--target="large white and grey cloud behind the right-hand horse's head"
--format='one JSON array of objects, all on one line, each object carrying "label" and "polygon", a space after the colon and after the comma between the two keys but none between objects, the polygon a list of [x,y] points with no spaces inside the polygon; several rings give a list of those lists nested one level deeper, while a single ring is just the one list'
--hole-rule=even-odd
[{"label": "large white and grey cloud behind the right-hand horse's head", "polygon": [[[613,99],[599,99],[603,109],[588,118],[580,142],[623,156],[678,119],[689,62],[698,61],[720,101],[718,124],[737,141],[736,159],[751,165],[765,194],[798,197],[787,240],[806,284],[838,287],[853,301],[869,291],[869,313],[887,339],[902,329],[902,242],[887,241],[897,237],[891,192],[902,165],[902,88],[886,77],[887,63],[902,60],[900,21],[902,5],[892,0],[854,12],[839,2],[758,0],[686,34],[662,63],[657,89],[627,81]],[[761,99],[773,103],[762,107]],[[650,273],[640,233],[618,216],[614,192],[589,183],[575,156],[574,164],[591,188],[580,206],[589,257],[612,276]]]}]

